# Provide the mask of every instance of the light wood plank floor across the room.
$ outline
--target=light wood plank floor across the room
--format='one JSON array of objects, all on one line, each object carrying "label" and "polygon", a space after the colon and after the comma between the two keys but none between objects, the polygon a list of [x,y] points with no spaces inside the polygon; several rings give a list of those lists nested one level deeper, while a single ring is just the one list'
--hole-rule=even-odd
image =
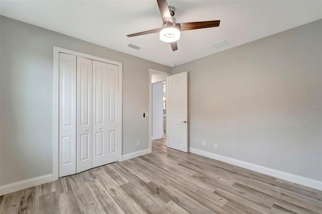
[{"label": "light wood plank floor across the room", "polygon": [[4,196],[1,213],[322,213],[322,191],[152,143],[152,153]]}]

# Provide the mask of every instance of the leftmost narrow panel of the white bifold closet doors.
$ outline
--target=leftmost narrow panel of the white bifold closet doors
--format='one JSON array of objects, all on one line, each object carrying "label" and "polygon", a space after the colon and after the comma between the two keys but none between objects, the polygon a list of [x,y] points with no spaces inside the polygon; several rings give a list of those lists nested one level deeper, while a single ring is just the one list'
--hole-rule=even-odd
[{"label": "leftmost narrow panel of the white bifold closet doors", "polygon": [[76,173],[76,56],[59,53],[59,170]]}]

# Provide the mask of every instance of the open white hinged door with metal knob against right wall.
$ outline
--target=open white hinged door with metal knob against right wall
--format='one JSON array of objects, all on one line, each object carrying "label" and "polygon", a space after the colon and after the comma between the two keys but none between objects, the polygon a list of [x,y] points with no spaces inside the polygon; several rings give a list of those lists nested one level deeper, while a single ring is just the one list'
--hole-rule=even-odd
[{"label": "open white hinged door with metal knob against right wall", "polygon": [[188,73],[167,77],[168,146],[188,152]]}]

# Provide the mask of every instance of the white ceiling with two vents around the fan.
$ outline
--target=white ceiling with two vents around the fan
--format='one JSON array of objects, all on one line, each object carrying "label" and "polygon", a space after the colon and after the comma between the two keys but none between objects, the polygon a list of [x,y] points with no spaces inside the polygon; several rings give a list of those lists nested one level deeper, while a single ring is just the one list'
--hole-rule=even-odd
[{"label": "white ceiling with two vents around the fan", "polygon": [[[181,33],[178,51],[157,33],[127,34],[162,27],[156,1],[1,1],[3,16],[102,45],[160,64],[180,65],[290,28],[322,19],[322,1],[168,1],[177,23],[221,20],[217,28]],[[226,40],[222,49],[212,45]],[[135,50],[128,44],[142,47]]]}]

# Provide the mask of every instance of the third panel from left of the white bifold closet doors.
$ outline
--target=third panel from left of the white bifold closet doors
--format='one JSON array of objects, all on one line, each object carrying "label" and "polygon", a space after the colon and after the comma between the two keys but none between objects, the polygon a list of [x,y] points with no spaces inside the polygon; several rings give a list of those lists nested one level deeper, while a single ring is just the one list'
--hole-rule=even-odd
[{"label": "third panel from left of the white bifold closet doors", "polygon": [[93,60],[93,167],[107,164],[109,113],[106,65]]}]

